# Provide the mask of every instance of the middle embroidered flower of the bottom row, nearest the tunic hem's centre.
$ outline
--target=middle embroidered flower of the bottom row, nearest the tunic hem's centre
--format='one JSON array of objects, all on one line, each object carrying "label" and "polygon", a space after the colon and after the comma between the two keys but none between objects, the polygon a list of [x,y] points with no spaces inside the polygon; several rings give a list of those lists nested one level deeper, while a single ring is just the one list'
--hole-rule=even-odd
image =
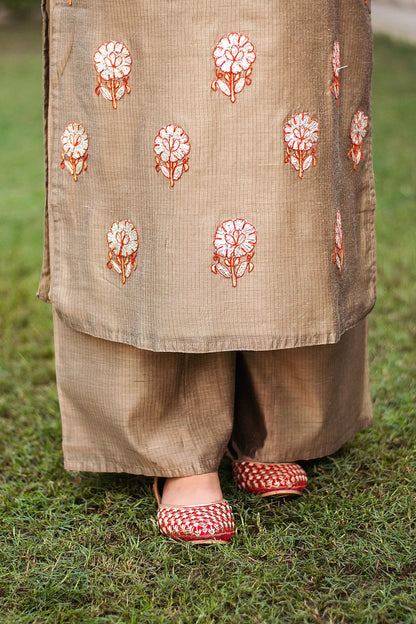
[{"label": "middle embroidered flower of the bottom row, nearest the tunic hem's centre", "polygon": [[235,288],[237,280],[254,269],[252,258],[257,243],[256,228],[245,219],[224,221],[215,232],[214,264],[211,271],[231,279]]}]

